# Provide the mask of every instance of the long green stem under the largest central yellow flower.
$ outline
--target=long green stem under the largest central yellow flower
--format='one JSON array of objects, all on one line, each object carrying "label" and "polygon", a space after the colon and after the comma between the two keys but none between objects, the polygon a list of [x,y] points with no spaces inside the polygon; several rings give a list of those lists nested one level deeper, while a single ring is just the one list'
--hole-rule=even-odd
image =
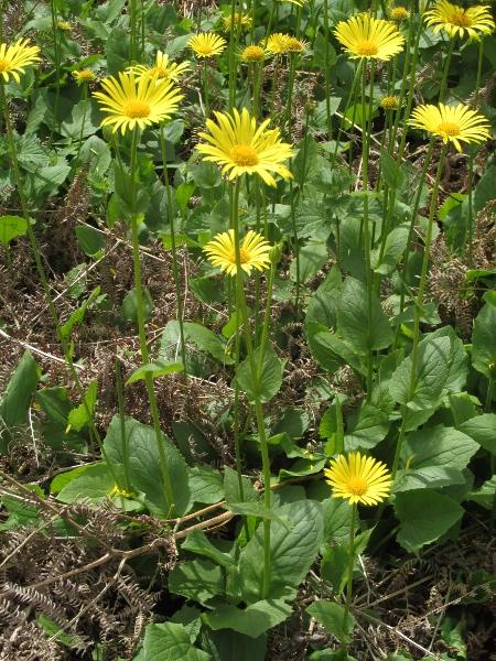
[{"label": "long green stem under the largest central yellow flower", "polygon": [[[248,362],[250,366],[251,384],[254,390],[254,403],[255,413],[257,418],[258,434],[260,438],[260,453],[262,457],[262,474],[263,474],[263,503],[265,507],[270,510],[270,459],[269,459],[269,446],[267,444],[266,427],[263,421],[263,410],[260,397],[260,382],[258,380],[258,369],[255,360],[254,344],[251,340],[251,332],[248,318],[248,311],[246,307],[245,288],[242,283],[242,269],[241,269],[241,254],[240,254],[240,242],[239,242],[239,223],[238,223],[238,207],[239,207],[239,189],[241,184],[241,177],[238,177],[235,186],[234,194],[234,243],[236,252],[236,286],[238,293],[238,304],[241,311],[242,325],[245,328],[245,340],[248,354]],[[262,599],[269,596],[270,592],[270,519],[263,519],[263,586],[262,586]]]}]

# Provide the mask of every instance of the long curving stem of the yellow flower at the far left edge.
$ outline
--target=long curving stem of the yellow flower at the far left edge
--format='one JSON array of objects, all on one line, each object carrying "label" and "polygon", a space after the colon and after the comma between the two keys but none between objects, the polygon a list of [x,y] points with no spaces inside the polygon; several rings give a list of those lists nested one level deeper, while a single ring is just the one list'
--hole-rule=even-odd
[{"label": "long curving stem of the yellow flower at the far left edge", "polygon": [[114,466],[111,465],[109,457],[105,451],[100,435],[99,435],[98,430],[93,420],[93,412],[90,411],[90,409],[88,407],[88,403],[87,403],[86,397],[85,397],[85,392],[83,390],[79,378],[77,376],[76,368],[74,367],[72,351],[67,345],[67,340],[66,340],[64,334],[62,333],[61,324],[58,322],[57,311],[55,310],[55,305],[52,300],[52,294],[50,293],[48,283],[46,281],[45,272],[43,270],[40,251],[37,249],[36,237],[34,236],[34,231],[31,226],[31,218],[30,218],[30,214],[28,210],[28,204],[26,204],[25,196],[24,196],[24,188],[22,186],[21,171],[19,170],[19,161],[18,161],[17,149],[15,149],[15,141],[13,138],[12,123],[10,121],[9,109],[7,107],[6,88],[4,88],[3,79],[0,79],[0,107],[3,108],[3,110],[4,110],[7,134],[9,137],[9,145],[10,145],[10,158],[12,159],[12,165],[13,165],[14,173],[15,173],[15,183],[18,185],[19,198],[21,201],[22,215],[23,215],[25,224],[26,224],[26,231],[28,231],[28,236],[30,238],[31,247],[33,249],[34,261],[36,262],[37,272],[40,274],[40,280],[42,282],[43,291],[46,296],[46,302],[48,304],[48,310],[50,310],[50,313],[52,315],[52,319],[53,319],[53,323],[55,326],[57,339],[60,340],[60,343],[62,345],[62,349],[64,351],[65,359],[69,367],[71,375],[76,384],[77,392],[82,399],[82,402],[83,402],[83,405],[85,409],[85,413],[88,418],[88,426],[89,426],[90,431],[93,432],[93,434],[95,435],[95,438],[97,440],[98,446],[101,452],[101,456],[104,457],[104,460],[107,464],[108,469],[110,470],[114,481],[116,484],[118,484],[116,472],[114,470]]}]

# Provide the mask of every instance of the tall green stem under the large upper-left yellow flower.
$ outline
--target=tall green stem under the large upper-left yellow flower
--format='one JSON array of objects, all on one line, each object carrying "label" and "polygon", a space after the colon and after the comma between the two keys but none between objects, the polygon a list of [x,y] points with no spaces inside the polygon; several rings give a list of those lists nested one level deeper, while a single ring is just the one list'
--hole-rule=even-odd
[{"label": "tall green stem under the large upper-left yellow flower", "polygon": [[[149,354],[147,345],[147,336],[144,332],[144,313],[143,313],[143,290],[141,283],[141,266],[140,266],[140,245],[138,239],[138,214],[136,213],[136,164],[137,164],[137,152],[138,152],[138,129],[134,129],[132,133],[132,147],[131,147],[131,165],[130,165],[130,181],[129,181],[129,197],[131,201],[131,240],[132,240],[132,260],[134,267],[134,283],[136,283],[136,307],[138,316],[138,333],[140,337],[141,348],[141,360],[143,365],[149,365]],[[122,173],[123,175],[123,173]],[[169,474],[168,459],[165,456],[165,449],[162,441],[162,431],[160,429],[159,409],[157,407],[157,398],[153,389],[153,375],[147,372],[144,377],[147,384],[148,397],[150,400],[150,409],[153,418],[153,429],[155,431],[157,447],[159,449],[160,466],[162,468],[164,495],[168,505],[172,511],[174,500],[172,496],[172,484]]]}]

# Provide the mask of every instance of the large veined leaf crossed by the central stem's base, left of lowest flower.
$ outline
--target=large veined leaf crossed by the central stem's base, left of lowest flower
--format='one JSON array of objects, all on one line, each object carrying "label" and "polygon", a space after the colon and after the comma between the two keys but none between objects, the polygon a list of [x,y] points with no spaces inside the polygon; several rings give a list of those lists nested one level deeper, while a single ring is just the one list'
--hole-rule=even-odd
[{"label": "large veined leaf crossed by the central stem's base, left of lowest flower", "polygon": [[[315,561],[324,534],[320,502],[298,500],[278,509],[293,523],[272,523],[270,537],[270,587],[268,598],[291,598]],[[238,565],[238,581],[247,604],[260,600],[263,585],[263,523],[242,549]]]}]

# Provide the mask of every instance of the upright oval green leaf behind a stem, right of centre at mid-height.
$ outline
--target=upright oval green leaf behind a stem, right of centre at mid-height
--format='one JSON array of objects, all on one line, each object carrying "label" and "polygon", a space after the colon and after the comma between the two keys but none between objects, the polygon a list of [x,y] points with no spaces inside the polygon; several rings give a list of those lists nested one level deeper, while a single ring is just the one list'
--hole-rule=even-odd
[{"label": "upright oval green leaf behind a stem, right of centre at mid-height", "polygon": [[344,342],[360,356],[370,349],[389,347],[392,330],[379,299],[374,294],[371,317],[368,316],[367,288],[354,278],[346,278],[337,306],[337,327]]}]

